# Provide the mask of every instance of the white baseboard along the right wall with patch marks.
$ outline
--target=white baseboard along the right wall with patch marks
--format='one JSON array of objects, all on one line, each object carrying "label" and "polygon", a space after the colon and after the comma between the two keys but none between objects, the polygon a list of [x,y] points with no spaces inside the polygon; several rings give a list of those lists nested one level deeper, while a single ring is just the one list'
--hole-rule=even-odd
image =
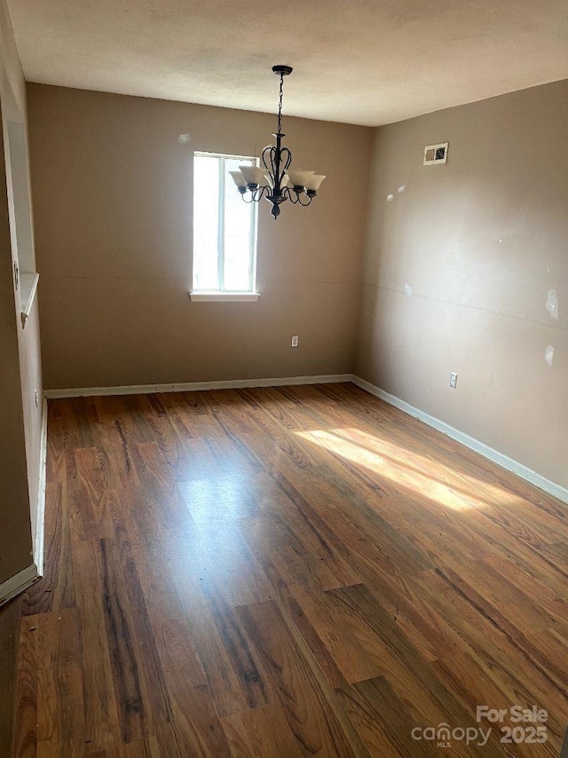
[{"label": "white baseboard along the right wall with patch marks", "polygon": [[497,465],[501,466],[502,469],[511,471],[511,473],[516,474],[517,477],[525,479],[525,481],[539,487],[545,493],[551,494],[558,500],[568,503],[568,489],[563,486],[557,485],[556,482],[552,482],[546,477],[542,477],[539,473],[529,469],[523,463],[514,461],[512,458],[509,458],[508,455],[504,455],[502,453],[499,453],[497,450],[493,450],[493,447],[485,445],[485,443],[480,442],[476,438],[469,437],[469,434],[464,434],[462,431],[454,429],[453,426],[450,426],[446,422],[440,421],[435,416],[424,413],[418,408],[415,408],[409,403],[406,403],[405,400],[401,400],[395,395],[390,395],[389,392],[385,392],[379,387],[375,387],[375,384],[371,384],[369,382],[366,382],[364,379],[360,379],[359,376],[353,376],[351,381],[360,387],[361,390],[365,390],[371,395],[375,395],[375,397],[389,403],[390,406],[397,407],[401,411],[404,411],[406,414],[414,416],[414,418],[417,418],[420,421],[428,424],[428,426],[431,426],[433,429],[441,431],[442,434],[446,434],[447,437],[455,439],[456,442],[460,442],[461,445],[469,447],[470,450],[474,450],[476,453],[483,455],[489,461],[497,463]]}]

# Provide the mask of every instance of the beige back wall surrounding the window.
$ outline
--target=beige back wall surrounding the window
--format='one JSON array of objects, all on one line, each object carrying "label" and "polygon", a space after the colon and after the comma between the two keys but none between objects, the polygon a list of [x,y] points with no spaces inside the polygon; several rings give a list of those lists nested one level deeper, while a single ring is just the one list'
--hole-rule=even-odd
[{"label": "beige back wall surrounding the window", "polygon": [[319,196],[261,202],[257,303],[191,303],[193,151],[257,153],[275,117],[39,84],[28,107],[46,387],[351,371],[371,130],[285,117]]}]

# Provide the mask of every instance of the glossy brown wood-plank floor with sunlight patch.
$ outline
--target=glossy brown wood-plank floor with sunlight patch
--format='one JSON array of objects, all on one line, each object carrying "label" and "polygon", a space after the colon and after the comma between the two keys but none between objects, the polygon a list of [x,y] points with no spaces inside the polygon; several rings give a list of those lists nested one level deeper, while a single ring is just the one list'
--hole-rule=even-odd
[{"label": "glossy brown wood-plank floor with sunlight patch", "polygon": [[45,550],[14,756],[559,753],[568,506],[351,384],[51,401]]}]

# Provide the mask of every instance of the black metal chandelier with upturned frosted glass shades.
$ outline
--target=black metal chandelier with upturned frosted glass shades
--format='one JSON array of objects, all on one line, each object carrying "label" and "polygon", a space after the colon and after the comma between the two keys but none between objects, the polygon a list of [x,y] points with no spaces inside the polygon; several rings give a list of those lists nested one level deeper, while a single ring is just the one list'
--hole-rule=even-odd
[{"label": "black metal chandelier with upturned frosted glass shades", "polygon": [[290,169],[292,154],[288,147],[282,147],[282,94],[284,77],[292,73],[290,66],[272,66],[274,74],[280,76],[280,101],[278,105],[278,131],[272,137],[276,145],[264,147],[264,166],[239,166],[238,171],[229,171],[245,202],[258,202],[262,197],[272,202],[274,218],[280,215],[280,204],[286,200],[300,205],[310,205],[325,176],[315,171]]}]

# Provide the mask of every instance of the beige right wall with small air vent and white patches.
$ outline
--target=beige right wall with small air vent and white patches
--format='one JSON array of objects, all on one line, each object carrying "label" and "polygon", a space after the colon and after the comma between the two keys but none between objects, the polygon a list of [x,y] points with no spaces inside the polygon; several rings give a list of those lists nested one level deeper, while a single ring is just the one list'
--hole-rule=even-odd
[{"label": "beige right wall with small air vent and white patches", "polygon": [[[567,135],[568,81],[375,130],[356,360],[368,382],[562,486]],[[422,166],[445,141],[447,164]]]}]

